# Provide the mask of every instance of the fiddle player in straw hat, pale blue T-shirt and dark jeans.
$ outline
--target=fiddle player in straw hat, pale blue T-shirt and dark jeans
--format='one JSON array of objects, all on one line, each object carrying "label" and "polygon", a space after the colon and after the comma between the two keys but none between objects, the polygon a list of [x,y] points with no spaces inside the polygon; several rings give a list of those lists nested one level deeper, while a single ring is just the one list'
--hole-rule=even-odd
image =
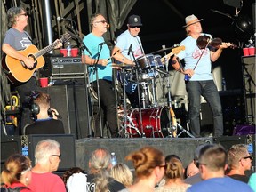
[{"label": "fiddle player in straw hat, pale blue T-shirt and dark jeans", "polygon": [[[203,20],[203,19],[201,19]],[[218,60],[223,49],[228,48],[230,43],[222,43],[215,51],[211,51],[208,47],[200,49],[196,40],[199,36],[211,35],[203,34],[201,23],[198,18],[192,14],[186,17],[187,37],[181,41],[180,45],[186,48],[172,58],[172,66],[175,70],[188,76],[186,81],[186,90],[189,100],[189,124],[191,133],[195,137],[200,137],[200,96],[209,103],[213,115],[213,133],[215,137],[223,134],[223,115],[220,103],[220,95],[216,85],[213,82],[211,73],[212,62]],[[185,67],[180,64],[180,60],[184,59]],[[196,67],[196,68],[195,68]]]}]

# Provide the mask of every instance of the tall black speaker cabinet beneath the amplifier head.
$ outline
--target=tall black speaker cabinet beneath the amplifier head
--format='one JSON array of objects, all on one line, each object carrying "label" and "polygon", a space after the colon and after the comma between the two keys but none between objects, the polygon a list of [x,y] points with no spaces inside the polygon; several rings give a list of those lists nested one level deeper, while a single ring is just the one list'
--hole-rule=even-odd
[{"label": "tall black speaker cabinet beneath the amplifier head", "polygon": [[85,90],[84,84],[53,85],[43,90],[51,96],[51,107],[59,111],[65,133],[74,134],[76,139],[88,137],[90,107]]}]

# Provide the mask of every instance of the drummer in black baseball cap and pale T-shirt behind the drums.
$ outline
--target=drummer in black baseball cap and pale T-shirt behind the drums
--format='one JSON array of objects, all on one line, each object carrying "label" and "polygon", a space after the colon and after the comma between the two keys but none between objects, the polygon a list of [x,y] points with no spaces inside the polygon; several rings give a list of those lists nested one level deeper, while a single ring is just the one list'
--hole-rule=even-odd
[{"label": "drummer in black baseball cap and pale T-shirt behind the drums", "polygon": [[[131,15],[128,18],[127,30],[125,30],[120,36],[117,36],[116,45],[112,51],[115,60],[127,65],[134,65],[133,56],[136,60],[144,55],[140,36],[138,36],[141,26],[142,23],[140,16]],[[125,92],[131,102],[132,108],[139,108],[137,84],[130,82],[126,85]]]}]

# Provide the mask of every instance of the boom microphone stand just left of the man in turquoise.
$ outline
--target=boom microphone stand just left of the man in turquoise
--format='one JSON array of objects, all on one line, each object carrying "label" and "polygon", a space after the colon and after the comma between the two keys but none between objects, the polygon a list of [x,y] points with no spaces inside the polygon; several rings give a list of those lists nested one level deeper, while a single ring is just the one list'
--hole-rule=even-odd
[{"label": "boom microphone stand just left of the man in turquoise", "polygon": [[[89,89],[90,89],[90,86],[91,84],[89,83],[89,76],[88,76],[88,66],[86,65],[86,62],[85,62],[85,55],[84,55],[84,50],[86,50],[87,52],[89,52],[89,55],[92,56],[92,53],[90,52],[90,50],[86,47],[86,45],[84,44],[83,40],[78,36],[76,35],[76,31],[73,29],[73,28],[68,28],[69,30],[72,30],[72,32],[68,31],[68,34],[70,36],[73,36],[74,38],[76,38],[80,44],[80,47],[81,47],[81,57],[83,60],[83,63],[84,64],[84,84],[85,84],[85,98],[87,99],[86,101],[86,108],[87,108],[87,126],[88,126],[88,135],[87,137],[88,138],[91,138],[92,137],[92,127],[91,127],[91,120],[92,120],[92,101],[91,101],[91,97],[89,96]],[[91,112],[91,113],[90,113]]]}]

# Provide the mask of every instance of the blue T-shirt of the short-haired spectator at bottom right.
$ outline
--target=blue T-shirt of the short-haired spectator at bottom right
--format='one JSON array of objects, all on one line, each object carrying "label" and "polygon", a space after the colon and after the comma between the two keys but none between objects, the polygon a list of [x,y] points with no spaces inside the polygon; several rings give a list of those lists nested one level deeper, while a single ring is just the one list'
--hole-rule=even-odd
[{"label": "blue T-shirt of the short-haired spectator at bottom right", "polygon": [[187,189],[187,192],[253,192],[244,182],[229,177],[212,178],[198,182]]}]

